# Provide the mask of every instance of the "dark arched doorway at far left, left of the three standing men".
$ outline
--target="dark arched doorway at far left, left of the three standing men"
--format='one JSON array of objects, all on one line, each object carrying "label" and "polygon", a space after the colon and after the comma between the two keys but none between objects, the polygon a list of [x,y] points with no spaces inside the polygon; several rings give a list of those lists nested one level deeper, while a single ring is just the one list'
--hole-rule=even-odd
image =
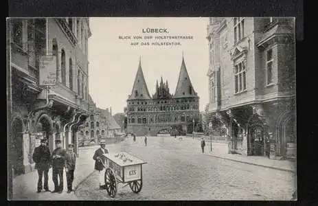
[{"label": "dark arched doorway at far left, left of the three standing men", "polygon": [[12,122],[12,147],[14,175],[23,174],[23,122],[15,118]]}]

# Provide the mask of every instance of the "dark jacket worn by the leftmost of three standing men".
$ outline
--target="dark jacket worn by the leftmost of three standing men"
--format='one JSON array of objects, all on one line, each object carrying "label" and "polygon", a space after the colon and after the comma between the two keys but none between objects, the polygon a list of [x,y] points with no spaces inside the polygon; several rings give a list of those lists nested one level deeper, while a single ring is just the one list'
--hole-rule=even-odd
[{"label": "dark jacket worn by the leftmost of three standing men", "polygon": [[47,170],[51,168],[52,159],[48,146],[38,146],[34,149],[32,159],[35,162],[35,169]]}]

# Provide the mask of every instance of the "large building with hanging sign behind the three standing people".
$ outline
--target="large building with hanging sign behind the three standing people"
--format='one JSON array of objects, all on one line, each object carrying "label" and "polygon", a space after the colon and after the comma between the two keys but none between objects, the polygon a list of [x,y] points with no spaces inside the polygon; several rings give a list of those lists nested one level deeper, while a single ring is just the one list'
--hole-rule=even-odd
[{"label": "large building with hanging sign behind the three standing people", "polygon": [[[88,117],[88,18],[8,20],[8,146],[14,174],[34,169],[40,139],[73,143]],[[43,86],[43,57],[52,58],[50,86]],[[55,60],[54,60],[55,59]]]}]

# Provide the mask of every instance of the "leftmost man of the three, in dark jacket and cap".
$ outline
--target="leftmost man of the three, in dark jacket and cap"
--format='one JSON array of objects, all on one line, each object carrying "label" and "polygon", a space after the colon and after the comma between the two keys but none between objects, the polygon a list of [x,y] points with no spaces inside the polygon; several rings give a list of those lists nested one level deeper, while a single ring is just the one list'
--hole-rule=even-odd
[{"label": "leftmost man of the three, in dark jacket and cap", "polygon": [[[46,139],[41,139],[41,145],[34,149],[32,159],[35,162],[34,169],[38,170],[38,187],[36,192],[41,192],[44,188],[45,192],[49,191],[49,168],[52,165],[51,152],[49,147],[46,145]],[[44,186],[42,179],[44,176]]]}]

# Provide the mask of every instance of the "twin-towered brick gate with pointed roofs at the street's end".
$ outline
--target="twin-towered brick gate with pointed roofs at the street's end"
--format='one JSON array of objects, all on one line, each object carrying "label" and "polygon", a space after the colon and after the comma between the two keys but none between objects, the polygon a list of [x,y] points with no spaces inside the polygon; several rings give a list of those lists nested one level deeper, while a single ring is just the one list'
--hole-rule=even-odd
[{"label": "twin-towered brick gate with pointed roofs at the street's end", "polygon": [[160,130],[168,130],[170,134],[192,133],[193,126],[198,124],[198,105],[199,98],[192,87],[184,58],[174,95],[169,91],[168,81],[164,83],[161,77],[152,97],[139,60],[133,89],[127,100],[127,133],[138,136],[155,136]]}]

